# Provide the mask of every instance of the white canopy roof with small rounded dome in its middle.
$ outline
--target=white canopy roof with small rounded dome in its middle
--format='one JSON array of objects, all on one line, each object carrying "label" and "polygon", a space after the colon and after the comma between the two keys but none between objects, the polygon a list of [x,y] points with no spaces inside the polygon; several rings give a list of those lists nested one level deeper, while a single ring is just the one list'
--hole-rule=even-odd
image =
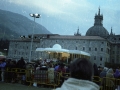
[{"label": "white canopy roof with small rounded dome in its middle", "polygon": [[37,48],[36,51],[48,51],[48,52],[58,52],[58,53],[70,53],[70,54],[81,54],[81,55],[86,55],[90,56],[89,53],[80,51],[80,50],[67,50],[67,49],[62,49],[61,45],[55,44],[53,45],[52,48]]}]

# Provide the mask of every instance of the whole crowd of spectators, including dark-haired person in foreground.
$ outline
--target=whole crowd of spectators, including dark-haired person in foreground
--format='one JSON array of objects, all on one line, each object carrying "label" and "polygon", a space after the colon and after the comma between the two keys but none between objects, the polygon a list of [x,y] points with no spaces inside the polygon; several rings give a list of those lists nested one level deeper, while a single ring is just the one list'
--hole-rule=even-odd
[{"label": "whole crowd of spectators, including dark-haired person in foreground", "polygon": [[[16,74],[5,72],[6,68],[32,68],[36,72],[39,70],[46,70],[48,72],[49,82],[51,83],[54,83],[54,72],[70,73],[70,78],[66,80],[64,78],[61,78],[60,86],[59,88],[56,88],[56,90],[76,90],[78,88],[81,88],[80,90],[99,90],[99,86],[103,84],[94,83],[92,81],[93,76],[98,76],[100,78],[108,77],[120,79],[119,68],[113,70],[112,68],[98,67],[95,63],[92,64],[85,58],[78,58],[76,60],[73,60],[69,65],[66,65],[63,62],[47,62],[46,60],[39,60],[38,62],[31,64],[26,63],[23,57],[21,57],[21,59],[17,62],[15,60],[5,60],[5,58],[0,59],[0,74],[2,82],[6,82],[7,80],[7,82],[14,83],[17,81],[17,78],[21,76],[20,78],[22,82],[25,83],[25,73]],[[114,82],[112,85],[114,86]]]}]

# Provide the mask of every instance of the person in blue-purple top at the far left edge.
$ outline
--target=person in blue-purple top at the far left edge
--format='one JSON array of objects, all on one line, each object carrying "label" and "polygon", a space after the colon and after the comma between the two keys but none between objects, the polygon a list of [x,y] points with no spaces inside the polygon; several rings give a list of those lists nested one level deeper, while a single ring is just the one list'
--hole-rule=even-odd
[{"label": "person in blue-purple top at the far left edge", "polygon": [[5,67],[6,67],[6,62],[5,58],[0,59],[0,68],[1,68],[1,81],[4,82],[4,76],[5,76]]}]

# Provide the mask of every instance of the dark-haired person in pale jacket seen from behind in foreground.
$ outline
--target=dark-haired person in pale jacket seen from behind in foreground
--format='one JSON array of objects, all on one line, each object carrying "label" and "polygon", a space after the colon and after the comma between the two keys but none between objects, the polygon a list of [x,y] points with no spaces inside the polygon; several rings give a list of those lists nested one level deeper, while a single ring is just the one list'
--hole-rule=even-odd
[{"label": "dark-haired person in pale jacket seen from behind in foreground", "polygon": [[92,82],[93,65],[86,58],[77,58],[70,64],[70,78],[55,90],[99,90]]}]

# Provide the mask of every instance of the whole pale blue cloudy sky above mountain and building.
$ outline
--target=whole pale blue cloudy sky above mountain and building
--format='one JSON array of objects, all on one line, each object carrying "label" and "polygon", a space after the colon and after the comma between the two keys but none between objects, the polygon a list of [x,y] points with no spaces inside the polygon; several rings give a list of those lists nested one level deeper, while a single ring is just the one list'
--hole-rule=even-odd
[{"label": "whole pale blue cloudy sky above mountain and building", "polygon": [[1,0],[0,9],[22,14],[41,14],[35,21],[53,34],[81,35],[94,25],[94,16],[100,8],[103,26],[110,33],[120,34],[120,0]]}]

